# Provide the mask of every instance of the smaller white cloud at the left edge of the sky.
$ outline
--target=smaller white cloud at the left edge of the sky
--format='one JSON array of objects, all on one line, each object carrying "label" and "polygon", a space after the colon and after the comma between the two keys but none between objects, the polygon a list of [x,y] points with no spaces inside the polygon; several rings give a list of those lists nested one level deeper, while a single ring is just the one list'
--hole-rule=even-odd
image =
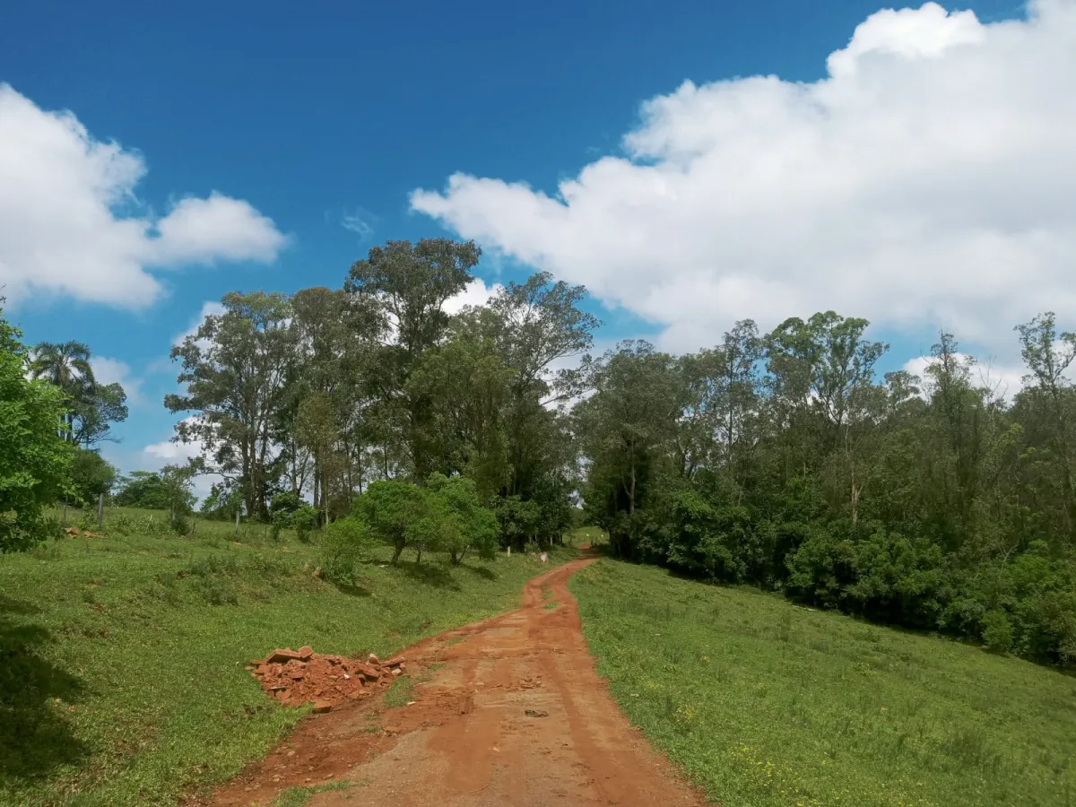
[{"label": "smaller white cloud at the left edge of the sky", "polygon": [[154,216],[134,195],[145,173],[139,153],[0,84],[0,285],[11,301],[142,307],[164,293],[150,268],[270,261],[285,245],[270,218],[215,192]]}]

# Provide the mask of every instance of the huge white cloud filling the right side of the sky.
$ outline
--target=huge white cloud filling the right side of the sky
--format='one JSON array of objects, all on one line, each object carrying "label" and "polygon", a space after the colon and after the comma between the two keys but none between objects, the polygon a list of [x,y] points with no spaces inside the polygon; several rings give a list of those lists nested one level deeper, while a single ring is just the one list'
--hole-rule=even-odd
[{"label": "huge white cloud filling the right side of the sky", "polygon": [[457,173],[411,206],[668,350],[834,309],[1015,353],[1013,325],[1076,316],[1076,0],[989,25],[880,11],[827,68],[684,83],[555,196]]}]

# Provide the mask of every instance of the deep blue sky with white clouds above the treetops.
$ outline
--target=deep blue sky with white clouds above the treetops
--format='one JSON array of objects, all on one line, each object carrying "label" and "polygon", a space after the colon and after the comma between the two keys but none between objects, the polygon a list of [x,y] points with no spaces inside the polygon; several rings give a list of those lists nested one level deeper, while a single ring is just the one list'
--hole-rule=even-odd
[{"label": "deep blue sky with white clouds above the treetops", "polygon": [[225,293],[390,239],[475,239],[469,300],[586,285],[599,349],[832,309],[1015,391],[1013,327],[1076,326],[1074,86],[1076,0],[13,0],[4,315],[124,384],[125,471],[184,455],[168,353]]}]

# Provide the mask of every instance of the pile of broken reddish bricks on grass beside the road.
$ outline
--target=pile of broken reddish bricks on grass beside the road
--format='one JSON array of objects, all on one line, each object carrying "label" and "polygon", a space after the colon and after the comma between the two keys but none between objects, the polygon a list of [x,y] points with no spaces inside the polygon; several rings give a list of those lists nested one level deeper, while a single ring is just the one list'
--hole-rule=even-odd
[{"label": "pile of broken reddish bricks on grass beside the road", "polygon": [[357,700],[373,690],[388,686],[402,674],[402,656],[380,661],[370,653],[366,661],[342,655],[323,655],[312,648],[274,650],[265,661],[246,667],[271,697],[288,706],[313,703],[315,712],[326,712],[346,700]]}]

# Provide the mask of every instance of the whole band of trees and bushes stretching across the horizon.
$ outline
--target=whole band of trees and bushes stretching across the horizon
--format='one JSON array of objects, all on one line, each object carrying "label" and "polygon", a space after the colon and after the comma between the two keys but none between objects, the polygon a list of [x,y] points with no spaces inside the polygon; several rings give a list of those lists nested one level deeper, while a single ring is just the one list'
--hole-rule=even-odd
[{"label": "whole band of trees and bushes stretching across the horizon", "polygon": [[923,378],[832,311],[751,320],[697,353],[591,355],[585,289],[537,273],[450,314],[471,242],[391,241],[341,288],[226,295],[172,350],[183,467],[119,479],[96,450],[126,416],[79,343],[0,321],[0,547],[58,532],[46,508],[108,493],[316,533],[346,577],[404,551],[608,530],[619,557],[780,592],[1040,663],[1076,663],[1076,335],[1018,325],[1019,392],[940,332]]}]

